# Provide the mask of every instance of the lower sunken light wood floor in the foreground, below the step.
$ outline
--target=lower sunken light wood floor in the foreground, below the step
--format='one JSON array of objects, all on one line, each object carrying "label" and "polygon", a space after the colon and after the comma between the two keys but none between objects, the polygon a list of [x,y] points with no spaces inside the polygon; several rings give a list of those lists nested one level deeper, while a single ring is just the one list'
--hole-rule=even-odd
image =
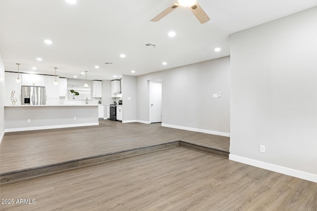
[{"label": "lower sunken light wood floor in the foreground, below the step", "polygon": [[182,147],[1,185],[28,211],[316,211],[317,184]]}]

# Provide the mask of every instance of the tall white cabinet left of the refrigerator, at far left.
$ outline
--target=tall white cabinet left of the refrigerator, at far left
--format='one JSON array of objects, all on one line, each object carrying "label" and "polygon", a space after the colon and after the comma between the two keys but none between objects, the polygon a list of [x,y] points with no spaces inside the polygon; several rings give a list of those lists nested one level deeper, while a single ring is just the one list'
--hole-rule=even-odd
[{"label": "tall white cabinet left of the refrigerator, at far left", "polygon": [[[18,78],[17,73],[4,72],[4,104],[5,105],[13,105],[11,101],[11,97],[13,101],[16,102],[14,105],[21,105],[21,81],[20,83],[16,83],[16,79]],[[19,78],[21,79],[21,74],[19,74]],[[14,91],[12,96],[12,91]]]}]

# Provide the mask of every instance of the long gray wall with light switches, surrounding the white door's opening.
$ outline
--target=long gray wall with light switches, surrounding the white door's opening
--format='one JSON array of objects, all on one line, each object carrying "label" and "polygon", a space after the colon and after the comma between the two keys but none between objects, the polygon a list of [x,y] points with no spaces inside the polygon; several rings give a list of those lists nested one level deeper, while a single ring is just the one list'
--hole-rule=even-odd
[{"label": "long gray wall with light switches, surrounding the white door's opening", "polygon": [[[149,121],[148,81],[162,79],[162,124],[230,132],[230,57],[137,77],[138,120]],[[221,91],[221,98],[212,98]]]}]

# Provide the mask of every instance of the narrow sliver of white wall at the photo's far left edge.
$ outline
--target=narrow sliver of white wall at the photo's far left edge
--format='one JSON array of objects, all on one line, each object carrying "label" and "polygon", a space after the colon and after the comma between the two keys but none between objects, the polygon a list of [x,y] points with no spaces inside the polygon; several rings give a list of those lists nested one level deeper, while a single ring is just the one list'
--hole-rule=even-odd
[{"label": "narrow sliver of white wall at the photo's far left edge", "polygon": [[0,143],[4,135],[4,62],[0,50]]}]

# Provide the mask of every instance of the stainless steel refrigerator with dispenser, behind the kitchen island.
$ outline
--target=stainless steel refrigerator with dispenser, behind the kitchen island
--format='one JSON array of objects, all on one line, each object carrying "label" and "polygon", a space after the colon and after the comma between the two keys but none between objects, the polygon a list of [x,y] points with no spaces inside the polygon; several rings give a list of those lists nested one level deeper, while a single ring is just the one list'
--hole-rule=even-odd
[{"label": "stainless steel refrigerator with dispenser, behind the kitchen island", "polygon": [[46,93],[43,86],[21,86],[22,105],[45,105]]}]

